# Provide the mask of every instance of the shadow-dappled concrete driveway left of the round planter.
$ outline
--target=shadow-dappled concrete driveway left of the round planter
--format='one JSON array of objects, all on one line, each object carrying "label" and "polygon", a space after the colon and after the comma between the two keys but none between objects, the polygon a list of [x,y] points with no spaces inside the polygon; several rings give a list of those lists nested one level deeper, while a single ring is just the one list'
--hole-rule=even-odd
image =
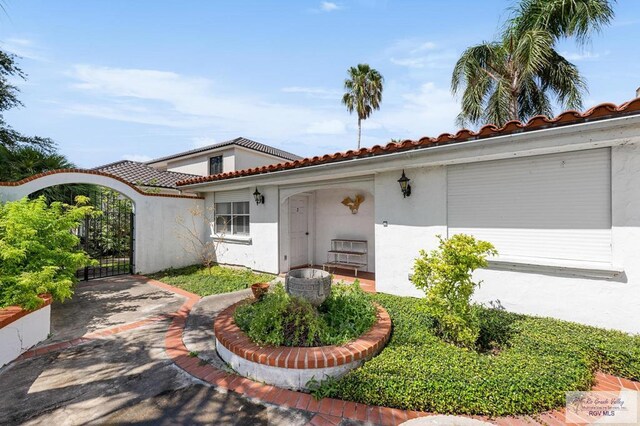
[{"label": "shadow-dappled concrete driveway left of the round planter", "polygon": [[0,370],[0,424],[306,423],[176,367],[164,337],[183,301],[130,276],[79,284],[72,300],[53,305],[52,336],[40,346],[73,345]]}]

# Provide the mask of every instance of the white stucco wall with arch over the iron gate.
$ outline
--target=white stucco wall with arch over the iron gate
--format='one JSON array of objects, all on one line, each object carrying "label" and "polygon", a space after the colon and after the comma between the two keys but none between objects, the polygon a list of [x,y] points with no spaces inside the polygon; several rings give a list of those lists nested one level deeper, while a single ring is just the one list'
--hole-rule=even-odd
[{"label": "white stucco wall with arch over the iron gate", "polygon": [[[178,237],[176,220],[178,216],[187,217],[196,206],[202,208],[202,199],[145,195],[119,180],[102,175],[56,173],[20,186],[0,186],[0,201],[18,200],[40,189],[68,183],[105,186],[133,201],[135,272],[146,274],[197,262],[192,253],[184,250]],[[197,222],[196,226],[199,233],[203,232],[204,222]]]}]

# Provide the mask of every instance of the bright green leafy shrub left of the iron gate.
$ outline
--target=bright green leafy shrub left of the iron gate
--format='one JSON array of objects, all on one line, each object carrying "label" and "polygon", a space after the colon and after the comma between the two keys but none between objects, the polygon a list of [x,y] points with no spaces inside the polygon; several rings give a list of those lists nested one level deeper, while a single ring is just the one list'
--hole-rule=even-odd
[{"label": "bright green leafy shrub left of the iron gate", "polygon": [[71,297],[76,270],[92,263],[71,233],[88,214],[97,214],[78,197],[77,205],[47,205],[26,198],[0,205],[0,307],[35,309],[38,295]]}]

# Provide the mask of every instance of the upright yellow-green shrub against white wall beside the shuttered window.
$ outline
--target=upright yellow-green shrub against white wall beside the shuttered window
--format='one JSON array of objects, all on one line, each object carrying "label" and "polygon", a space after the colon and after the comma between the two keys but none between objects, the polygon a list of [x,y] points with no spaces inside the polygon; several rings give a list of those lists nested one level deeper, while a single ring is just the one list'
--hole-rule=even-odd
[{"label": "upright yellow-green shrub against white wall beside the shuttered window", "polygon": [[413,284],[427,295],[427,308],[436,321],[439,334],[460,346],[473,347],[480,326],[471,308],[471,296],[480,283],[472,272],[487,266],[486,256],[496,254],[491,243],[470,235],[456,234],[440,240],[438,250],[420,257],[413,267]]}]

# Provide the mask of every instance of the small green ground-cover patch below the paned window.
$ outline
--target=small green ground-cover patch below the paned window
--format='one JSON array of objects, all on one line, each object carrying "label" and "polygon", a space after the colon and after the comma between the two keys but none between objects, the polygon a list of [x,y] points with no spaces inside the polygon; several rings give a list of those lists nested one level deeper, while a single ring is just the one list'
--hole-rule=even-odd
[{"label": "small green ground-cover patch below the paned window", "polygon": [[256,273],[250,269],[227,266],[213,266],[207,269],[200,265],[167,269],[149,277],[199,296],[243,290],[251,284],[269,282],[275,278],[274,275]]}]

